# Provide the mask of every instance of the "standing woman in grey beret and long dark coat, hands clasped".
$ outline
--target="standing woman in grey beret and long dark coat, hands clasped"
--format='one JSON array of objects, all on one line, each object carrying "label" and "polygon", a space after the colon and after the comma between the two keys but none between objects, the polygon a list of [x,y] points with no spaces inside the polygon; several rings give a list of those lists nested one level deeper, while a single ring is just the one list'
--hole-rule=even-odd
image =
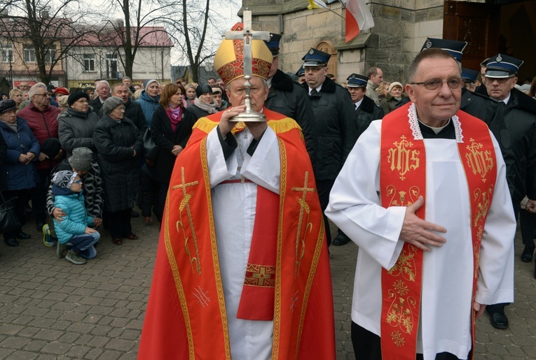
[{"label": "standing woman in grey beret and long dark coat, hands clasped", "polygon": [[139,157],[143,151],[142,134],[125,114],[123,99],[111,96],[102,106],[104,114],[95,127],[93,141],[97,148],[104,185],[104,212],[112,242],[123,238],[135,240],[130,213],[138,197]]}]

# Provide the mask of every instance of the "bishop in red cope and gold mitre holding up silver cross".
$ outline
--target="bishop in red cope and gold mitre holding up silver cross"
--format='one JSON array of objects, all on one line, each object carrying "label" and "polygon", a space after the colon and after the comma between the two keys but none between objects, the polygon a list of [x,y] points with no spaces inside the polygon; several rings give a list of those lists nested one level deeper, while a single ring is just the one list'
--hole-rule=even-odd
[{"label": "bishop in red cope and gold mitre holding up silver cross", "polygon": [[[233,28],[242,31],[242,24]],[[231,108],[202,117],[167,195],[140,359],[335,359],[329,257],[298,124],[263,107],[272,55],[224,40],[214,68]]]}]

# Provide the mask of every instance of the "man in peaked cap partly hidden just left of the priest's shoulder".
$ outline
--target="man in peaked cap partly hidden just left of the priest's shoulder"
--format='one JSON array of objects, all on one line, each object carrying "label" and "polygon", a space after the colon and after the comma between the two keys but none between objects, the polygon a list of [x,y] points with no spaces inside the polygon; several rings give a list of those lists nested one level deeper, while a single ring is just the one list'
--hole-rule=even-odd
[{"label": "man in peaked cap partly hidden just left of the priest's shoulder", "polygon": [[[383,110],[369,96],[365,95],[366,85],[369,81],[367,76],[352,73],[346,80],[348,80],[346,87],[350,92],[350,97],[355,107],[355,143],[357,137],[369,127],[371,122],[383,118]],[[338,229],[338,235],[333,240],[333,245],[346,245],[348,243],[350,243],[350,238],[341,229]]]}]

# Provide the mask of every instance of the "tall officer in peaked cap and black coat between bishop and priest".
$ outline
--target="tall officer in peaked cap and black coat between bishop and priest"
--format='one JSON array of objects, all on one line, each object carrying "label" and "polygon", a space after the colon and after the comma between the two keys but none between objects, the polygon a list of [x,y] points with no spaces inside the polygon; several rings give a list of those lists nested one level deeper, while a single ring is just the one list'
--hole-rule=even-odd
[{"label": "tall officer in peaked cap and black coat between bishop and priest", "polygon": [[[322,212],[327,208],[331,187],[357,139],[355,108],[350,94],[327,77],[330,57],[326,52],[311,48],[302,58],[305,61],[303,89],[309,94],[317,120],[317,158],[313,168]],[[331,234],[326,215],[324,224],[327,229],[327,243],[330,245]]]}]

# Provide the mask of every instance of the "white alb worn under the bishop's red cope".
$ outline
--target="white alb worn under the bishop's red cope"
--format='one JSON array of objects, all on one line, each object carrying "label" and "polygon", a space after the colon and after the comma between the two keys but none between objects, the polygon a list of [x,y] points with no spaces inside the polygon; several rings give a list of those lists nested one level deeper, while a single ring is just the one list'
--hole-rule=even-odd
[{"label": "white alb worn under the bishop's red cope", "polygon": [[[236,315],[252,244],[257,185],[280,192],[279,144],[275,132],[268,127],[251,157],[247,147],[253,136],[245,129],[235,135],[239,147],[226,161],[216,131],[219,129],[214,128],[207,136],[207,161],[231,357],[270,359],[273,322],[237,319]],[[252,182],[221,184],[241,177]]]}]

